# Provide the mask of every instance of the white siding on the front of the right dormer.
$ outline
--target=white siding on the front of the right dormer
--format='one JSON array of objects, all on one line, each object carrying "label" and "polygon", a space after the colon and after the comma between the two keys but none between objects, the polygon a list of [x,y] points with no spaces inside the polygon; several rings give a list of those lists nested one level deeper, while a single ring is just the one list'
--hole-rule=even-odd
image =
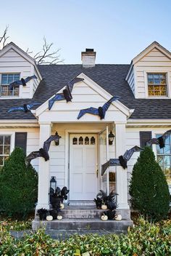
[{"label": "white siding on the front of the right dormer", "polygon": [[171,60],[154,48],[134,65],[136,98],[148,97],[147,73],[167,73],[168,96],[171,97]]}]

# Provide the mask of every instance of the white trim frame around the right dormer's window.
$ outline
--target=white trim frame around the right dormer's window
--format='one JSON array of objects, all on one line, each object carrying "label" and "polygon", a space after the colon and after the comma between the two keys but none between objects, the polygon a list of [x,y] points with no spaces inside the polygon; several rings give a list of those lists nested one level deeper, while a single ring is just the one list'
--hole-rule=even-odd
[{"label": "white trim frame around the right dormer's window", "polygon": [[[152,96],[152,95],[150,95],[149,96],[149,84],[148,84],[148,74],[149,73],[165,73],[165,75],[166,75],[166,84],[167,84],[167,95],[166,96],[164,96],[164,95],[162,95],[162,96],[156,96],[156,95],[154,95],[154,96]],[[170,79],[169,79],[169,71],[157,71],[157,70],[151,70],[151,69],[148,69],[148,70],[146,70],[146,71],[144,71],[144,79],[145,79],[145,95],[146,95],[146,99],[155,99],[155,100],[157,100],[157,99],[168,99],[168,98],[170,98],[170,87],[169,87],[169,85],[170,85]]]}]

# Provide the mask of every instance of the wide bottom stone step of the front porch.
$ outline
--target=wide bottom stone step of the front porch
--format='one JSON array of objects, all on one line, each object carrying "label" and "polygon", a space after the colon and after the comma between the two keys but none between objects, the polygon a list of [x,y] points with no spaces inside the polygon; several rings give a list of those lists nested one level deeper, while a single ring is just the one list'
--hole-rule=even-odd
[{"label": "wide bottom stone step of the front porch", "polygon": [[107,231],[114,233],[122,233],[127,231],[129,226],[133,226],[132,220],[107,220],[98,219],[62,219],[53,221],[33,220],[32,228],[46,228],[46,231]]}]

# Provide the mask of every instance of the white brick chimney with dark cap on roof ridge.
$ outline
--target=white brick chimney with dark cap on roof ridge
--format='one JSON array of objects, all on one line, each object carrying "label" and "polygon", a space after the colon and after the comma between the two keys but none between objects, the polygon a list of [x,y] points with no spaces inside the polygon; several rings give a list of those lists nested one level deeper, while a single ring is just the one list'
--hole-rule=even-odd
[{"label": "white brick chimney with dark cap on roof ridge", "polygon": [[93,49],[86,49],[86,52],[81,52],[81,60],[83,68],[95,67],[96,52]]}]

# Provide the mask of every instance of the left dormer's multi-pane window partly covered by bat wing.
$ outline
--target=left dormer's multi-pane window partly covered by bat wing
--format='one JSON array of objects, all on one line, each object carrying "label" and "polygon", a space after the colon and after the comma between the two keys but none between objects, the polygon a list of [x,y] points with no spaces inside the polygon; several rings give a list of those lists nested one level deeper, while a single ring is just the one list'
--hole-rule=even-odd
[{"label": "left dormer's multi-pane window partly covered by bat wing", "polygon": [[15,86],[12,89],[9,88],[9,84],[17,80],[20,80],[20,73],[1,74],[1,97],[19,96],[19,86]]}]

